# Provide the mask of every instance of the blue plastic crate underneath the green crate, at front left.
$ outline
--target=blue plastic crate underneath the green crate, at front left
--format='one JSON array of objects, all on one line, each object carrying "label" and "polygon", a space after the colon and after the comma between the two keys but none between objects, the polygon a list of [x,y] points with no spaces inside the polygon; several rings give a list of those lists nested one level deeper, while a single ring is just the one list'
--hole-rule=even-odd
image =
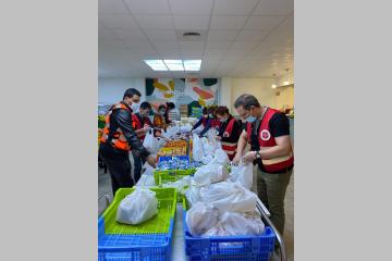
[{"label": "blue plastic crate underneath the green crate, at front left", "polygon": [[107,235],[103,217],[98,220],[98,261],[169,261],[174,220],[168,234]]}]

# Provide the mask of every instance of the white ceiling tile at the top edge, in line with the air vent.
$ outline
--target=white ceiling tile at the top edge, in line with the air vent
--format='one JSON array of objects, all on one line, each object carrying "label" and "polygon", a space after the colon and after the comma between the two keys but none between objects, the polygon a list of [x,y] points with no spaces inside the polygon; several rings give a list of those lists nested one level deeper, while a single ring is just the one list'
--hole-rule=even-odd
[{"label": "white ceiling tile at the top edge, in line with the air vent", "polygon": [[212,0],[169,0],[173,14],[210,14]]}]

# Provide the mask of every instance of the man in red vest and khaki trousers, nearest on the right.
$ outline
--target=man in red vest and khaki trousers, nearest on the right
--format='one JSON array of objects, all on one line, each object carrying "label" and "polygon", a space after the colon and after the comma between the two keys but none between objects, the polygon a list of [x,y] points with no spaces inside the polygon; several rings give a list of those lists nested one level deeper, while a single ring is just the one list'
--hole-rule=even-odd
[{"label": "man in red vest and khaki trousers, nearest on the right", "polygon": [[[261,107],[252,95],[240,96],[234,107],[246,119],[237,154],[233,162],[254,162],[257,174],[257,194],[271,213],[271,221],[283,235],[284,196],[293,173],[294,156],[290,139],[290,122],[281,112]],[[250,151],[244,154],[246,142]]]}]

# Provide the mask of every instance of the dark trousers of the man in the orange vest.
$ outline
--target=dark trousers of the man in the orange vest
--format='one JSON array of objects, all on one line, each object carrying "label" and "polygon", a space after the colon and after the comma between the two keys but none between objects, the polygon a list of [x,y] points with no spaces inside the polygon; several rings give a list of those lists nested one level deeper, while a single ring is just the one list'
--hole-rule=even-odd
[{"label": "dark trousers of the man in the orange vest", "polygon": [[99,147],[99,154],[109,169],[113,196],[119,188],[133,187],[128,151],[118,150],[103,142]]}]

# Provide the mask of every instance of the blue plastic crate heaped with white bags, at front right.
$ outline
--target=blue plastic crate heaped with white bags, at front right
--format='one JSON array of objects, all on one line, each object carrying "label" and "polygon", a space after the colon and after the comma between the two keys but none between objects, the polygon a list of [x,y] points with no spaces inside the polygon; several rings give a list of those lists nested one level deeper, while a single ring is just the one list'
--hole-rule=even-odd
[{"label": "blue plastic crate heaped with white bags, at front right", "polygon": [[185,208],[183,219],[185,253],[191,261],[268,261],[272,254],[275,235],[269,226],[259,236],[199,237],[188,231]]}]

